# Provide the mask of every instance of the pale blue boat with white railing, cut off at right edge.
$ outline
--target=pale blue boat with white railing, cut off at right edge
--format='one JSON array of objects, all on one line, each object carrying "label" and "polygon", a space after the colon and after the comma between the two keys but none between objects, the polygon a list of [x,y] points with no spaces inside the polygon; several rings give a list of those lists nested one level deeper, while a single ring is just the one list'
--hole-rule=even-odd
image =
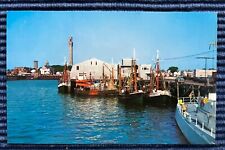
[{"label": "pale blue boat with white railing, cut off at right edge", "polygon": [[178,100],[176,122],[191,144],[215,144],[216,93]]}]

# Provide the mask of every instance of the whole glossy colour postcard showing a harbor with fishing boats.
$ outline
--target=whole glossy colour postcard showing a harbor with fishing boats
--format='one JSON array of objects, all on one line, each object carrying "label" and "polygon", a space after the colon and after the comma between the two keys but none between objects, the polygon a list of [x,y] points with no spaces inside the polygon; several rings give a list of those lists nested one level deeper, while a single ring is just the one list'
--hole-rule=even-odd
[{"label": "whole glossy colour postcard showing a harbor with fishing boats", "polygon": [[217,14],[8,11],[10,144],[215,144]]}]

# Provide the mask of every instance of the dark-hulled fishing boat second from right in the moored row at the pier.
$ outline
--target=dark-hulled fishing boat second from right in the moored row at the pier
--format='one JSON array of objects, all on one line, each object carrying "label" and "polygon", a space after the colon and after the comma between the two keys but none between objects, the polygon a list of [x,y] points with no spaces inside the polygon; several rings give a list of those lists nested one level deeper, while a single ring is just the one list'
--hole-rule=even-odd
[{"label": "dark-hulled fishing boat second from right in the moored row at the pier", "polygon": [[118,66],[118,77],[119,77],[119,95],[118,99],[122,102],[133,102],[133,103],[143,103],[144,92],[138,90],[137,88],[137,65],[135,61],[131,60],[131,83],[122,87],[121,80],[121,67]]}]

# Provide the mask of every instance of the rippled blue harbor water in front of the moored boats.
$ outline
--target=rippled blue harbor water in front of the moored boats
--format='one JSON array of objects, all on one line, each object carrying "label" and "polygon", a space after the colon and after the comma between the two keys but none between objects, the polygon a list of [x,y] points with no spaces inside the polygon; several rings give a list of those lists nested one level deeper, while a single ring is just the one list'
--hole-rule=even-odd
[{"label": "rippled blue harbor water in front of the moored boats", "polygon": [[186,144],[175,108],[59,94],[56,80],[7,81],[8,143]]}]

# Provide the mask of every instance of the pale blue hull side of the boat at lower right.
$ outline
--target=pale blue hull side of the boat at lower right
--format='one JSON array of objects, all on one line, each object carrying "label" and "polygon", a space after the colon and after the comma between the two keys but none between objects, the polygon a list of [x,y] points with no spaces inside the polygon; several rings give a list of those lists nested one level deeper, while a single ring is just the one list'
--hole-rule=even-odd
[{"label": "pale blue hull side of the boat at lower right", "polygon": [[215,144],[215,139],[203,132],[201,129],[197,128],[193,123],[188,122],[178,108],[176,109],[175,119],[181,132],[184,134],[189,143]]}]

